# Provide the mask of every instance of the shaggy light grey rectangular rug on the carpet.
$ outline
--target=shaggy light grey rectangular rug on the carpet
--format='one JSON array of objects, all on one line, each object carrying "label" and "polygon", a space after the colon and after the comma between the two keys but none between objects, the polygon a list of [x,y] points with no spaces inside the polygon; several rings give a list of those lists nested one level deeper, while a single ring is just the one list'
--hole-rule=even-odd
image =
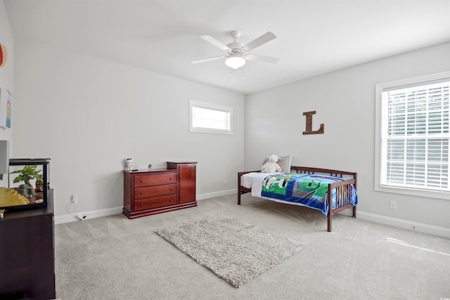
[{"label": "shaggy light grey rectangular rug on the carpet", "polygon": [[234,287],[299,252],[304,244],[237,219],[210,216],[155,230]]}]

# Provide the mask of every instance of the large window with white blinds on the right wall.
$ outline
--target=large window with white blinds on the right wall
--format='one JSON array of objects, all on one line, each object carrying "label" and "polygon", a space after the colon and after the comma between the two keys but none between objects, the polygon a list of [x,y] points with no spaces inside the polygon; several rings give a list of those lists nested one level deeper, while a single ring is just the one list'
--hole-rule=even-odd
[{"label": "large window with white blinds on the right wall", "polygon": [[450,199],[448,77],[377,85],[376,190]]}]

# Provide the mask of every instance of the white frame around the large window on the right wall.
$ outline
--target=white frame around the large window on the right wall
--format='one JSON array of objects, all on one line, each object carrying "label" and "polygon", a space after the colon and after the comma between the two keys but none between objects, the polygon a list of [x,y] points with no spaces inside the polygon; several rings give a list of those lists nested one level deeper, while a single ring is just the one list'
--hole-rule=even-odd
[{"label": "white frame around the large window on the right wall", "polygon": [[375,85],[375,190],[387,193],[399,193],[404,195],[414,195],[420,197],[432,197],[450,200],[449,191],[430,190],[426,188],[409,188],[394,185],[384,185],[381,183],[382,159],[382,138],[383,138],[383,91],[389,89],[403,89],[409,86],[422,86],[434,83],[435,81],[446,81],[450,79],[450,72],[440,72],[428,74],[420,77],[390,81]]}]

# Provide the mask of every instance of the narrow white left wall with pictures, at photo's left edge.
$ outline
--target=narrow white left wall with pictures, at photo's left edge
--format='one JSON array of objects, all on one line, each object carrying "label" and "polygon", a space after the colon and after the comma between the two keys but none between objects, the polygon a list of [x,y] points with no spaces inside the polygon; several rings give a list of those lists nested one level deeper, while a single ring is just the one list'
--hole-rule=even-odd
[{"label": "narrow white left wall with pictures, at photo's left edge", "polygon": [[[6,51],[8,51],[8,58],[6,60],[6,64],[4,67],[0,67],[0,89],[8,89],[11,95],[13,96],[13,100],[15,98],[14,95],[14,38],[13,31],[11,30],[11,26],[9,25],[8,15],[6,14],[6,8],[4,6],[4,1],[0,1],[0,43],[6,46]],[[14,102],[13,102],[14,105]],[[12,105],[11,113],[11,126],[14,124],[14,115],[15,110]],[[0,140],[8,140],[10,141],[10,154],[13,152],[13,131],[11,129],[4,129],[0,127]],[[1,183],[0,183],[1,185]]]}]

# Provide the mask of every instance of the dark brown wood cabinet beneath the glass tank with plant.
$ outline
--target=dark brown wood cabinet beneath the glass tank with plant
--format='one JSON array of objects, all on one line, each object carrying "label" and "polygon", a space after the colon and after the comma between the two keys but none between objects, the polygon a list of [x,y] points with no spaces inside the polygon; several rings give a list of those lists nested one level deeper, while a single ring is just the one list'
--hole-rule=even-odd
[{"label": "dark brown wood cabinet beneath the glass tank with plant", "polygon": [[55,299],[53,190],[47,207],[0,219],[0,299]]}]

